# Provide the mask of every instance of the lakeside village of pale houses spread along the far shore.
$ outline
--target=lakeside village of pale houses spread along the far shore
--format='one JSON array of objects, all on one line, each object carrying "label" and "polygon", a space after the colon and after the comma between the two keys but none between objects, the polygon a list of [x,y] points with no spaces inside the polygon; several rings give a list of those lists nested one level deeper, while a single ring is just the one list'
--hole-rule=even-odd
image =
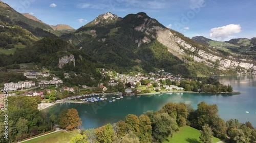
[{"label": "lakeside village of pale houses spread along the far shore", "polygon": [[[100,74],[102,78],[108,77],[108,81],[99,82],[98,87],[88,87],[87,85],[79,85],[79,87],[66,87],[63,86],[63,81],[54,74],[49,72],[25,72],[24,75],[31,80],[19,81],[17,83],[9,82],[5,85],[10,96],[26,95],[26,96],[45,96],[50,93],[55,87],[58,92],[68,93],[79,93],[79,91],[94,89],[96,92],[111,92],[110,89],[113,87],[123,85],[124,90],[122,91],[125,95],[135,95],[143,93],[147,90],[160,91],[160,90],[183,90],[183,88],[177,87],[176,85],[162,84],[162,81],[169,80],[173,83],[178,83],[182,80],[180,75],[173,75],[165,72],[164,70],[157,70],[156,73],[150,72],[148,74],[137,73],[133,76],[126,74],[118,74],[111,70],[101,69]],[[65,78],[68,74],[65,74]],[[36,80],[35,80],[36,79]],[[47,80],[48,79],[48,80]],[[36,82],[35,82],[36,81]],[[48,89],[51,87],[51,89]],[[3,89],[2,89],[3,91]]]}]

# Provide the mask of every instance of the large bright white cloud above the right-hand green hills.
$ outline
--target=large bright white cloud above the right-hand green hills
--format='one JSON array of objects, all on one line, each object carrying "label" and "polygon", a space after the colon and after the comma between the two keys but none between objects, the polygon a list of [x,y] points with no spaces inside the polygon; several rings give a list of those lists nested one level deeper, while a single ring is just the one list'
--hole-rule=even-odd
[{"label": "large bright white cloud above the right-hand green hills", "polygon": [[210,31],[210,37],[221,38],[223,40],[231,34],[240,33],[241,26],[239,24],[229,24],[222,27],[211,28]]}]

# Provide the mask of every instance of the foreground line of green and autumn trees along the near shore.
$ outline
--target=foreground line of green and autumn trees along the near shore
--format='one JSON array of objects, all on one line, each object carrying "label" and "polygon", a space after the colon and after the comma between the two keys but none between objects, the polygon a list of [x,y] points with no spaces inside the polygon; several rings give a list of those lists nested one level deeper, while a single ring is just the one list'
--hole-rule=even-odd
[{"label": "foreground line of green and autumn trees along the near shore", "polygon": [[184,103],[167,103],[162,109],[144,112],[139,117],[129,114],[124,121],[83,130],[70,142],[163,142],[185,125],[199,129],[202,142],[212,142],[212,136],[230,143],[256,141],[256,129],[250,122],[225,122],[218,115],[216,104],[201,102],[196,110]]}]

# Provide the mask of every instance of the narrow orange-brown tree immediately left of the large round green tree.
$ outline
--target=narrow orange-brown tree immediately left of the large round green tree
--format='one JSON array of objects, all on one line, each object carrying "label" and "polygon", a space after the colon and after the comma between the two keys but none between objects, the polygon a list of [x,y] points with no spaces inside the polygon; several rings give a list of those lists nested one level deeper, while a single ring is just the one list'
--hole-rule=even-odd
[{"label": "narrow orange-brown tree immediately left of the large round green tree", "polygon": [[152,126],[150,118],[145,115],[139,117],[139,133],[138,137],[140,138],[141,143],[151,142],[152,141]]}]

